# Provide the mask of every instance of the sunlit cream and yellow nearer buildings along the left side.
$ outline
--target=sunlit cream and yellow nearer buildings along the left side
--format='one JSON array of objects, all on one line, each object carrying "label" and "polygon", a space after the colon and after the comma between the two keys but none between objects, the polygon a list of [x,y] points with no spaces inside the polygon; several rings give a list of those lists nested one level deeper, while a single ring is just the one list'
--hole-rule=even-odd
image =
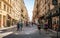
[{"label": "sunlit cream and yellow nearer buildings along the left side", "polygon": [[23,0],[0,0],[0,27],[11,26],[20,21],[23,5]]}]

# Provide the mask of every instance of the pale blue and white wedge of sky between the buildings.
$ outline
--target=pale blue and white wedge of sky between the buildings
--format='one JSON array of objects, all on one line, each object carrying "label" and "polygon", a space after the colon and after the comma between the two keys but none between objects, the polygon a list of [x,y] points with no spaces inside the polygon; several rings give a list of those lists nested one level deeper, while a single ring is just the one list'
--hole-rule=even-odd
[{"label": "pale blue and white wedge of sky between the buildings", "polygon": [[27,8],[28,11],[28,16],[29,16],[29,20],[32,20],[32,15],[33,15],[33,7],[34,7],[34,0],[24,0],[25,6]]}]

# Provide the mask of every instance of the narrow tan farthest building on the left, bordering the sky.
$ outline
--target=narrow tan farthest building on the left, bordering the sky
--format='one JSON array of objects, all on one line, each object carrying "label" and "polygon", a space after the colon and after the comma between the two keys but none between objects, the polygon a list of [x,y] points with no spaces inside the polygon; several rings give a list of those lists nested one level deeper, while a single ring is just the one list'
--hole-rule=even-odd
[{"label": "narrow tan farthest building on the left, bordering the sky", "polygon": [[28,18],[28,11],[25,7],[25,4],[23,2],[23,0],[21,0],[21,21],[23,23],[28,22],[29,18]]}]

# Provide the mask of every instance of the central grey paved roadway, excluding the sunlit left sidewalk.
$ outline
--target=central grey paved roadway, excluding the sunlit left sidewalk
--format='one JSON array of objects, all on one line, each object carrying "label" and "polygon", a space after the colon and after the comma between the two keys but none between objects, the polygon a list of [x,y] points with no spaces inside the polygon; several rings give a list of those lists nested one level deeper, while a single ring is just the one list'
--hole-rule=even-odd
[{"label": "central grey paved roadway, excluding the sunlit left sidewalk", "polygon": [[44,30],[41,30],[40,33],[37,27],[26,27],[23,28],[23,31],[15,31],[3,38],[51,38]]}]

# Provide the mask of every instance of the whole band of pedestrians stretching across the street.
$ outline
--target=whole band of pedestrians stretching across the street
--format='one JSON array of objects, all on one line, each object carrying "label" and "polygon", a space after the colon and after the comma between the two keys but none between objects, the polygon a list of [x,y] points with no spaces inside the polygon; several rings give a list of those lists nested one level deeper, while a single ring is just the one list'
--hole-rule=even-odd
[{"label": "whole band of pedestrians stretching across the street", "polygon": [[34,23],[34,22],[26,22],[25,24],[22,21],[17,22],[17,31],[21,30],[23,28],[23,25],[28,27],[29,25],[33,26],[36,25],[37,29],[40,31],[41,29],[44,29],[46,32],[48,31],[48,22],[45,22],[45,24],[43,24],[42,22],[40,23]]}]

